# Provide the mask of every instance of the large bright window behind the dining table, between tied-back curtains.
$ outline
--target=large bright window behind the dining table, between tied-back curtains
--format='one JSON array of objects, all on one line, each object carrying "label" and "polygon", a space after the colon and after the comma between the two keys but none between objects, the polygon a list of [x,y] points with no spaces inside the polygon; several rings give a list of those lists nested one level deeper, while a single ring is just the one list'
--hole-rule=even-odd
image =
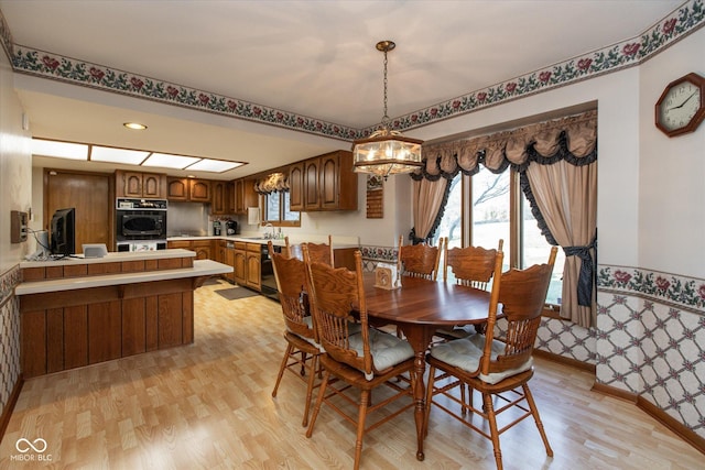
[{"label": "large bright window behind the dining table, between tied-back curtains", "polygon": [[[499,239],[503,239],[503,270],[546,262],[551,245],[539,230],[514,171],[507,168],[501,174],[494,174],[480,165],[473,176],[458,173],[451,185],[443,218],[434,233],[436,243],[440,237],[448,237],[448,248],[467,244],[497,248]],[[463,204],[464,194],[471,204]],[[561,304],[564,263],[565,253],[558,249],[546,304]]]}]

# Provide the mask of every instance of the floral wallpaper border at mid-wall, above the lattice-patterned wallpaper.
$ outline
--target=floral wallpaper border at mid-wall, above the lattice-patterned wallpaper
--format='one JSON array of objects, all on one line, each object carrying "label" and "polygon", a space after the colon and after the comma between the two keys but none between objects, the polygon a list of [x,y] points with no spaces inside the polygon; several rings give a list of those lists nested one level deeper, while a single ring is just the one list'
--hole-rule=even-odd
[{"label": "floral wallpaper border at mid-wall, above the lattice-patterned wallpaper", "polygon": [[[641,267],[600,265],[597,272],[600,292],[648,297],[661,304],[705,316],[705,280]],[[598,316],[604,314],[599,311]]]}]

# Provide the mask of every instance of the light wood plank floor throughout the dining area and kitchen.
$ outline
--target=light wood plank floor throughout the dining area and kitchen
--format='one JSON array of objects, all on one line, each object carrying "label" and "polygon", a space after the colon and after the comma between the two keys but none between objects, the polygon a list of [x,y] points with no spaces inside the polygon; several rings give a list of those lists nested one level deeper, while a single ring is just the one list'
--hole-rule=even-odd
[{"label": "light wood plank floor throughout the dining area and kitchen", "polygon": [[[330,409],[313,437],[301,426],[305,385],[285,374],[278,303],[196,291],[193,346],[25,382],[0,445],[0,468],[347,469],[355,429]],[[536,359],[532,391],[555,456],[531,419],[502,435],[507,469],[696,469],[705,456],[634,405],[590,392],[590,374]],[[18,461],[20,438],[47,442],[47,461]],[[28,452],[32,453],[32,452]],[[415,459],[413,414],[365,439],[365,469],[494,469],[491,442],[437,408],[426,459]]]}]

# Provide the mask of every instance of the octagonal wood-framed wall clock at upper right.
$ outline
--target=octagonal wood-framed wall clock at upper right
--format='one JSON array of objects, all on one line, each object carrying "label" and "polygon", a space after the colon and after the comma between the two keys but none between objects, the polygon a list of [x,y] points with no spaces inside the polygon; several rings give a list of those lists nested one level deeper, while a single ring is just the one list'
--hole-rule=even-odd
[{"label": "octagonal wood-framed wall clock at upper right", "polygon": [[671,81],[655,106],[655,124],[664,134],[693,132],[705,118],[705,77],[695,73]]}]

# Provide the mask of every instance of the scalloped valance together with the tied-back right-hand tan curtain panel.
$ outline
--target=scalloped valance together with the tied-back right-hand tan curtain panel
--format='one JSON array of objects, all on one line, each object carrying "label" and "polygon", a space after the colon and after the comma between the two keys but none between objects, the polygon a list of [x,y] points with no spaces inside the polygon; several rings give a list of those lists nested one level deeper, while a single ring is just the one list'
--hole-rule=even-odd
[{"label": "scalloped valance together with the tied-back right-hand tan curtain panel", "polygon": [[427,145],[423,154],[414,182],[473,175],[480,163],[492,173],[518,171],[542,233],[566,254],[561,316],[595,326],[597,111]]}]

